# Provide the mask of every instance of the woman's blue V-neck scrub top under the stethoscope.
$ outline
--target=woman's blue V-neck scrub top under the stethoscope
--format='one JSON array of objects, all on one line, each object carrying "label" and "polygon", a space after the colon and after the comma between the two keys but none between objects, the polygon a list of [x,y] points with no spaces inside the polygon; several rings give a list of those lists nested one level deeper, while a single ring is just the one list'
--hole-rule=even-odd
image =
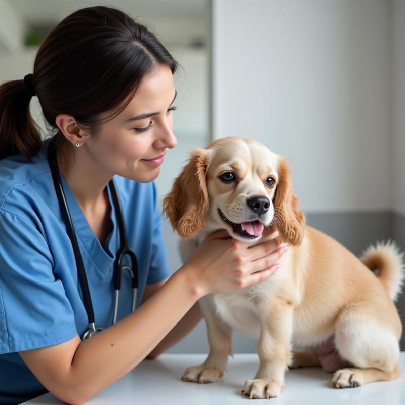
[{"label": "woman's blue V-neck scrub top under the stethoscope", "polygon": [[[15,154],[0,160],[0,403],[21,403],[47,392],[17,352],[52,346],[88,329],[67,227],[47,161],[49,140],[30,163]],[[113,231],[101,246],[62,177],[86,269],[96,326],[108,328],[114,307],[113,263],[120,246],[108,188]],[[146,284],[171,275],[154,182],[114,176],[128,242],[139,264],[140,305]],[[128,255],[124,264],[129,264]],[[131,312],[128,271],[121,278],[118,320]],[[134,342],[136,344],[136,342]]]}]

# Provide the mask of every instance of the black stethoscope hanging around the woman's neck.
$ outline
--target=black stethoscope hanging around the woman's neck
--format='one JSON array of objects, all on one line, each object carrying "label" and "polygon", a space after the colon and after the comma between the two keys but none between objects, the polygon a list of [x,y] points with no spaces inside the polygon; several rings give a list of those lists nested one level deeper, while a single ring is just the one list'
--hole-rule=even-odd
[{"label": "black stethoscope hanging around the woman's neck", "polygon": [[[83,265],[82,255],[80,254],[79,245],[74,231],[72,218],[70,216],[69,207],[67,206],[65,192],[59,174],[58,162],[56,158],[56,138],[52,138],[48,145],[48,163],[51,168],[52,179],[55,186],[56,195],[59,200],[59,205],[62,212],[64,212],[65,222],[67,223],[67,230],[72,241],[74,257],[77,265],[77,275],[82,289],[83,303],[86,308],[87,317],[89,319],[89,329],[82,335],[82,341],[94,336],[96,333],[101,332],[103,328],[96,327],[94,322],[93,304],[90,297],[89,285],[87,282],[85,266]],[[117,320],[118,304],[119,304],[119,290],[121,289],[121,271],[128,270],[132,279],[132,311],[136,308],[137,292],[138,292],[138,260],[133,250],[128,246],[127,233],[124,225],[124,217],[121,209],[119,197],[115,188],[114,179],[111,179],[108,183],[114,201],[114,207],[117,212],[117,220],[119,226],[119,238],[121,241],[121,247],[119,248],[114,261],[114,289],[115,289],[115,306],[113,324]],[[129,255],[131,259],[131,266],[122,265],[122,260],[125,255]],[[134,269],[134,270],[133,270]]]}]

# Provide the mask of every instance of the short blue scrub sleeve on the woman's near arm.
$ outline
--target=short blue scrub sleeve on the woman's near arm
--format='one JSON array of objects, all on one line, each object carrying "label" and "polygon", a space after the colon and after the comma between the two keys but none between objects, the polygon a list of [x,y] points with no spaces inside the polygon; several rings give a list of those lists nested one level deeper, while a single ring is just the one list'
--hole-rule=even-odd
[{"label": "short blue scrub sleeve on the woman's near arm", "polygon": [[74,313],[41,233],[0,210],[0,353],[51,346],[73,338]]}]

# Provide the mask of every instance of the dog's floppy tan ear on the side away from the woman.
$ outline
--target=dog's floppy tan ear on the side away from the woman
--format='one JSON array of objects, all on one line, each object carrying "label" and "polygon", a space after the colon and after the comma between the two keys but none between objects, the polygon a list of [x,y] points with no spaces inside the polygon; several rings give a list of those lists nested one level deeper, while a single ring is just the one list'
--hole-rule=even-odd
[{"label": "dog's floppy tan ear on the side away from the woman", "polygon": [[273,198],[274,219],[271,230],[278,230],[282,241],[290,245],[300,245],[304,237],[305,214],[298,208],[298,198],[294,195],[287,159],[278,158],[278,184]]}]

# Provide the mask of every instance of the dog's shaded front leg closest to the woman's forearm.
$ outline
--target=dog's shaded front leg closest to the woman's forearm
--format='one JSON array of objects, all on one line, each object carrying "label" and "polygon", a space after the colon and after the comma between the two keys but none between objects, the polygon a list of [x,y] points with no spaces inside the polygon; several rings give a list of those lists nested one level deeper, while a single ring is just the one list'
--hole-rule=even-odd
[{"label": "dog's shaded front leg closest to the woman's forearm", "polygon": [[228,355],[233,354],[232,328],[216,314],[215,303],[211,295],[200,298],[198,303],[207,326],[210,353],[203,364],[188,367],[182,380],[212,383],[224,375]]}]

